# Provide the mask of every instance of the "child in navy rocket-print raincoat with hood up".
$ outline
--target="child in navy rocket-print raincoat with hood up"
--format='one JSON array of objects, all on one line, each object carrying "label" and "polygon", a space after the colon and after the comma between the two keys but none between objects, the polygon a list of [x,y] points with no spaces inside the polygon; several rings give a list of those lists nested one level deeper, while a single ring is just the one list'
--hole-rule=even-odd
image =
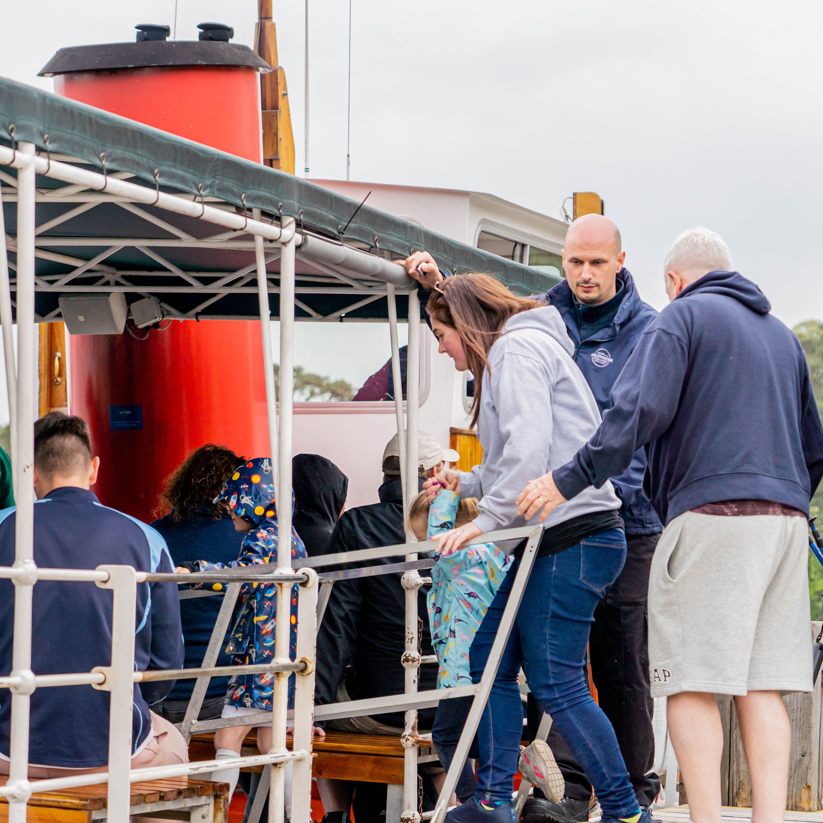
[{"label": "child in navy rocket-print raincoat with hood up", "polygon": [[[189,564],[190,571],[237,568],[258,563],[277,563],[277,509],[269,458],[254,458],[238,467],[226,481],[215,503],[226,500],[235,528],[248,531],[240,546],[240,556],[228,564],[198,560]],[[294,500],[292,499],[292,509]],[[291,529],[291,557],[305,557],[303,542]],[[214,584],[216,591],[223,584]],[[240,588],[238,617],[232,627],[226,653],[238,666],[267,663],[274,657],[274,627],[277,625],[277,588],[274,584],[244,583]],[[297,644],[297,586],[291,591],[290,657],[295,658]],[[226,706],[272,710],[274,675],[249,674],[232,677],[226,692]],[[289,708],[294,707],[295,676],[289,677]]]}]

